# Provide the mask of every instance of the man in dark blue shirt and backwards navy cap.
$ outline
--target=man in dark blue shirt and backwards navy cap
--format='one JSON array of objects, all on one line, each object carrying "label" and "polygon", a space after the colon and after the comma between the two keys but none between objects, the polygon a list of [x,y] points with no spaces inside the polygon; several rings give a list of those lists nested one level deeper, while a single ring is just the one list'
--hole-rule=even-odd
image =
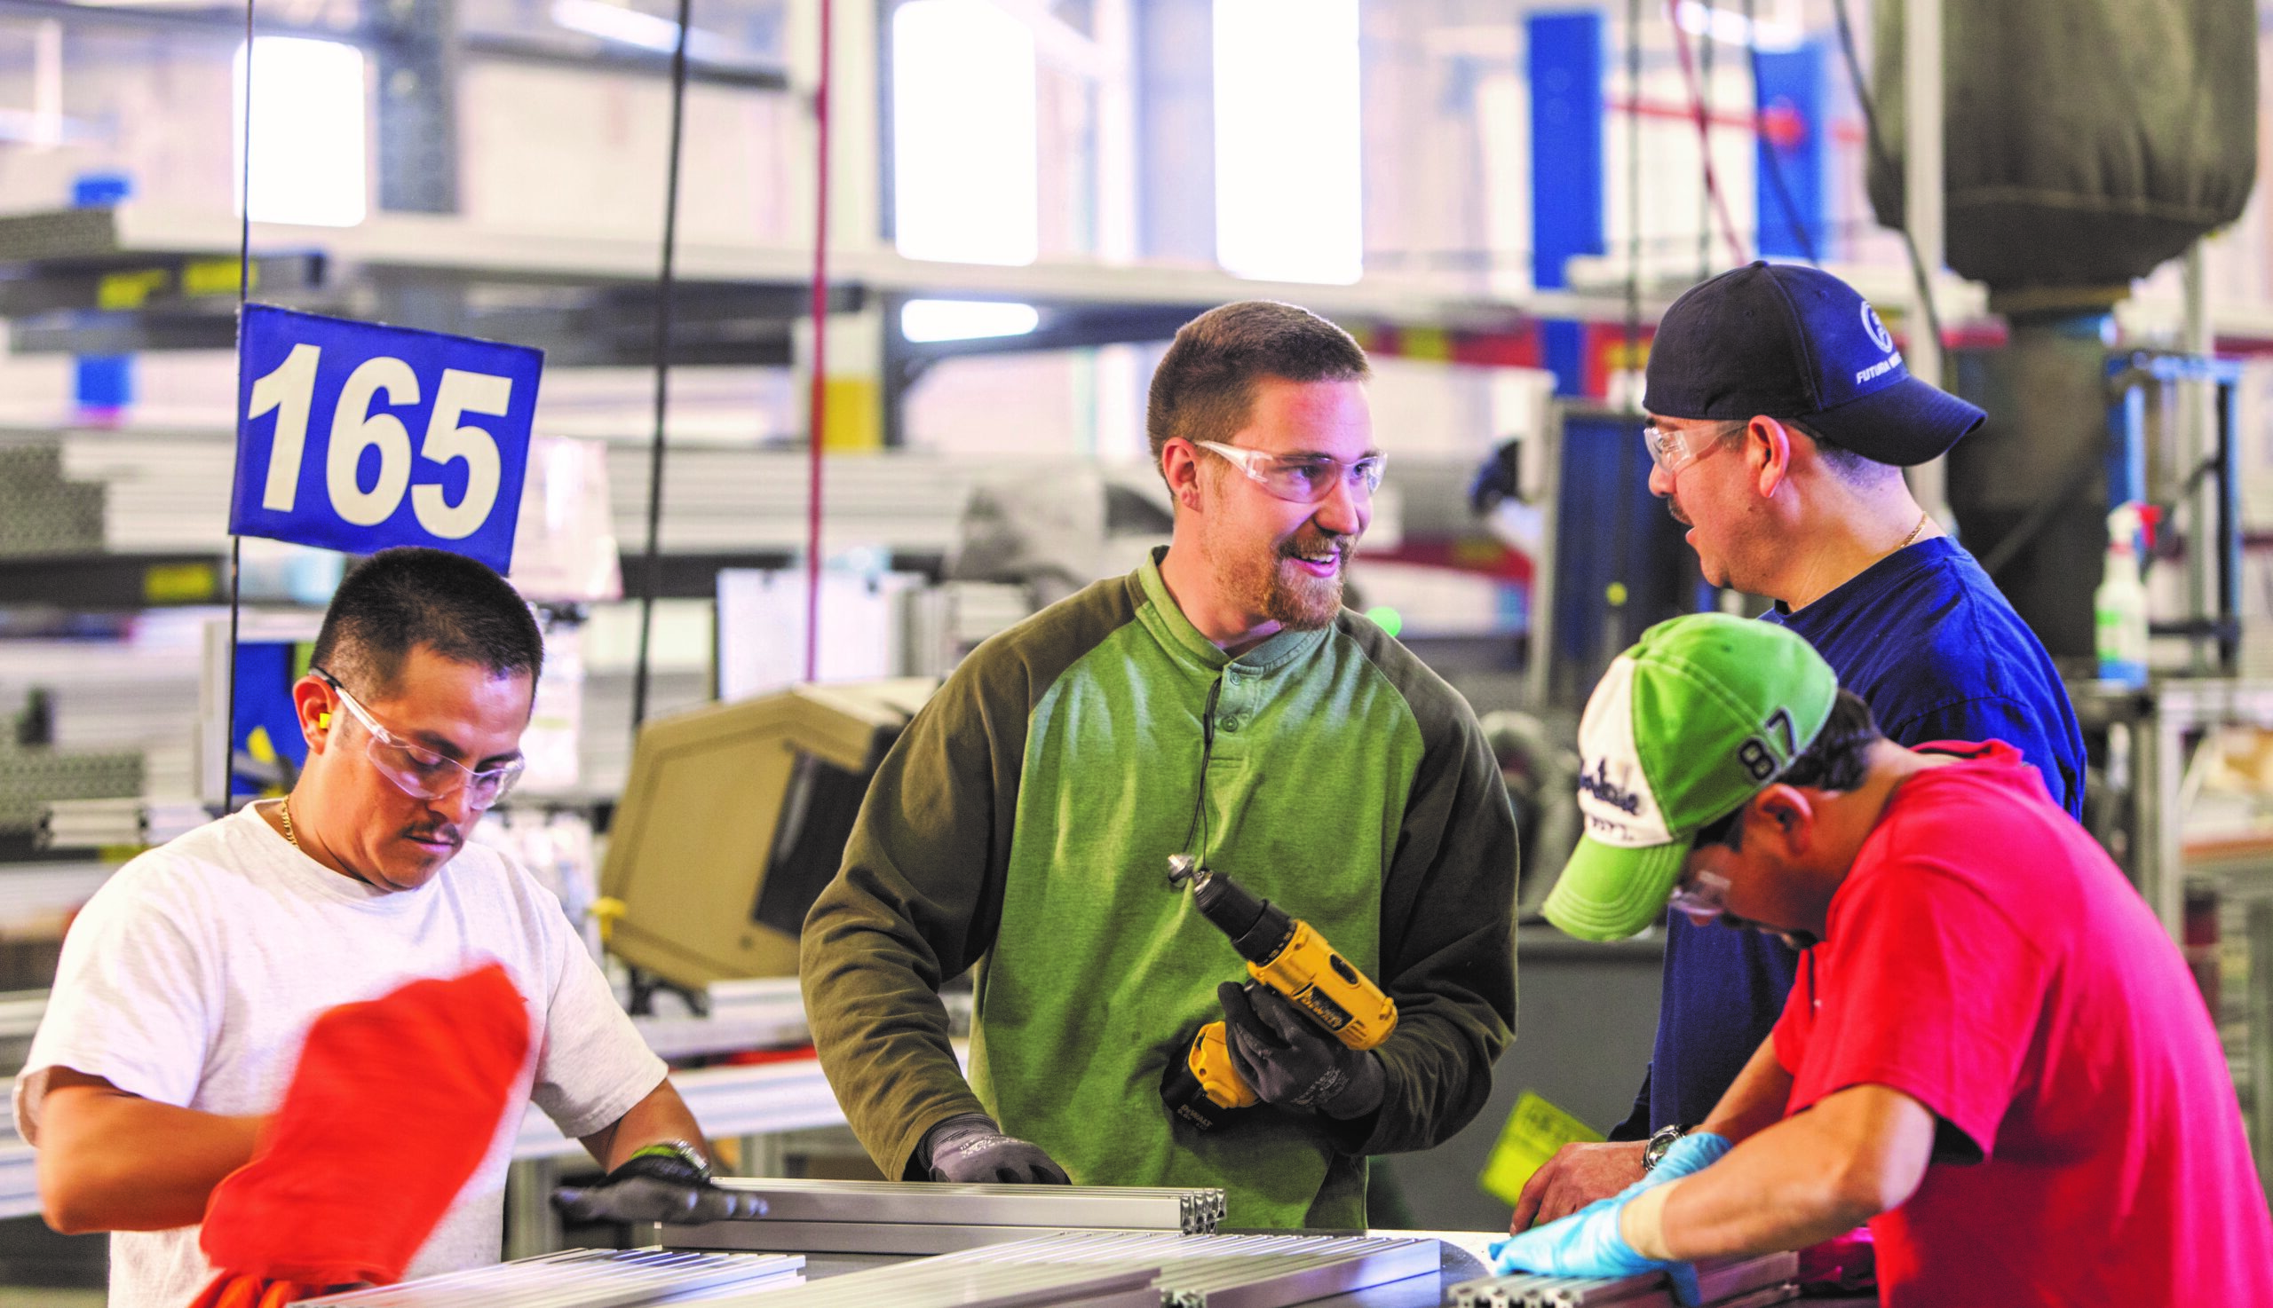
[{"label": "man in dark blue shirt and backwards navy cap", "polygon": [[[1689,527],[1707,581],[1773,597],[1766,620],[1805,636],[1896,745],[2005,740],[2082,813],[2084,740],[2059,672],[1903,481],[1984,416],[1914,379],[1852,286],[1771,263],[1691,286],[1657,327],[1643,409],[1650,491]],[[1634,1115],[1609,1144],[1541,1167],[1512,1229],[1641,1179],[1759,1049],[1796,972],[1793,942],[1675,913]]]}]

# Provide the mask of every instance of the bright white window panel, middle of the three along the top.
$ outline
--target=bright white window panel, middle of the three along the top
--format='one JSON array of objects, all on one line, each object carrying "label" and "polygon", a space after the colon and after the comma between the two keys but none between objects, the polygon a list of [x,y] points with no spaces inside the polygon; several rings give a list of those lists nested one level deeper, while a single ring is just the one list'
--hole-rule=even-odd
[{"label": "bright white window panel, middle of the three along the top", "polygon": [[1034,32],[989,0],[891,16],[893,241],[909,259],[1032,263],[1041,250]]}]

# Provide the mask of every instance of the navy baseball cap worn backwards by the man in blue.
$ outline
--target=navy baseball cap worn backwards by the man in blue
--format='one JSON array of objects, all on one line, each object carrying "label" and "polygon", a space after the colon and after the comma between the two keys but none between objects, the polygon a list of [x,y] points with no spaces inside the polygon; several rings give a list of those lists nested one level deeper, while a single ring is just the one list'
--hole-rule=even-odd
[{"label": "navy baseball cap worn backwards by the man in blue", "polygon": [[1650,341],[1641,406],[1662,418],[1798,418],[1832,445],[1903,468],[1937,459],[1987,418],[1912,377],[1852,286],[1798,263],[1748,263],[1684,291]]}]

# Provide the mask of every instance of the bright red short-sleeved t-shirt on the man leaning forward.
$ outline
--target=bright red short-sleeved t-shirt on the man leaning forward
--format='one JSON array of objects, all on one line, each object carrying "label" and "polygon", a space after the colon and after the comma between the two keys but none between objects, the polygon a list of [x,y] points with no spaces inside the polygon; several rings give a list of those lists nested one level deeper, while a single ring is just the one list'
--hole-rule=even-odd
[{"label": "bright red short-sleeved t-shirt on the man leaning forward", "polygon": [[1775,1024],[1789,1113],[1889,1085],[1934,1163],[1889,1308],[2273,1306],[2273,1219],[2178,947],[2009,745],[1896,788]]}]

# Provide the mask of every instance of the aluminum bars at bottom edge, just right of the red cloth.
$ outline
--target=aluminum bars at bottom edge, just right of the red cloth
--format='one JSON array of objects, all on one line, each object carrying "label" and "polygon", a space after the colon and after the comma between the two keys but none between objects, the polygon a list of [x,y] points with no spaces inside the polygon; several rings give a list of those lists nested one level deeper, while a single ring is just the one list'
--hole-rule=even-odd
[{"label": "aluminum bars at bottom edge, just right of the red cloth", "polygon": [[661,1249],[571,1249],[423,1276],[402,1285],[302,1299],[302,1308],[632,1308],[716,1299],[805,1281],[805,1258],[782,1254],[666,1254]]}]

